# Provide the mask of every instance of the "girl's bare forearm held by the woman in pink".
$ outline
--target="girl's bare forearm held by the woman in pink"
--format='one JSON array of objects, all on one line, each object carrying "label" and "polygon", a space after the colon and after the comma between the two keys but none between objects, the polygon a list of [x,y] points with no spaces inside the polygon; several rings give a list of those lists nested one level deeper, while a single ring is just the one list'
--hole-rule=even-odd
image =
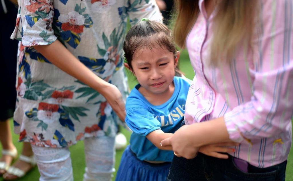
[{"label": "girl's bare forearm held by the woman in pink", "polygon": [[149,133],[146,137],[150,140],[157,148],[161,150],[172,150],[172,146],[161,146],[161,141],[166,138],[171,138],[173,136],[173,133],[164,133],[162,130],[157,129]]}]

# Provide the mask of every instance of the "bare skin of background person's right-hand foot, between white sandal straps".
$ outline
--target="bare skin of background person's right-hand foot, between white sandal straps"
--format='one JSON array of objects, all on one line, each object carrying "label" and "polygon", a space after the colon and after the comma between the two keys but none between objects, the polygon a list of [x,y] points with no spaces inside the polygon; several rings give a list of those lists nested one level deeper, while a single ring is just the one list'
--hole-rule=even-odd
[{"label": "bare skin of background person's right-hand foot, between white sandal straps", "polygon": [[[23,149],[21,152],[22,155],[24,156],[32,156],[33,155],[33,151],[32,151],[32,147],[30,146],[29,142],[23,142]],[[14,164],[13,167],[19,168],[21,170],[23,170],[25,173],[28,172],[33,166],[30,163],[27,163],[25,161],[22,160],[17,160]],[[3,175],[3,177],[6,180],[13,180],[16,179],[17,176],[9,174],[9,173],[5,173]]]}]

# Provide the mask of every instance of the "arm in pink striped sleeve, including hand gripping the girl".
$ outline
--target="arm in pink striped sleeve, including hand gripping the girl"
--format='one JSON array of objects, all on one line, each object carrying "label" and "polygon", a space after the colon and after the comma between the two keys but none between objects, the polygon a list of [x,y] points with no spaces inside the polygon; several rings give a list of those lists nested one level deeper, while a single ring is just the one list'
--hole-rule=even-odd
[{"label": "arm in pink striped sleeve, including hand gripping the girl", "polygon": [[[201,145],[226,142],[229,138],[234,142],[270,138],[289,132],[293,112],[293,39],[287,37],[293,34],[293,28],[287,26],[284,18],[288,10],[285,1],[265,1],[262,6],[266,12],[260,23],[262,36],[255,35],[252,41],[253,51],[262,56],[255,58],[255,65],[249,69],[253,81],[251,100],[234,107],[224,117],[181,127],[162,145],[171,144],[174,151],[180,150],[182,153],[176,152],[192,158]],[[272,6],[278,7],[276,12],[270,11]],[[180,140],[184,137],[192,140]]]}]

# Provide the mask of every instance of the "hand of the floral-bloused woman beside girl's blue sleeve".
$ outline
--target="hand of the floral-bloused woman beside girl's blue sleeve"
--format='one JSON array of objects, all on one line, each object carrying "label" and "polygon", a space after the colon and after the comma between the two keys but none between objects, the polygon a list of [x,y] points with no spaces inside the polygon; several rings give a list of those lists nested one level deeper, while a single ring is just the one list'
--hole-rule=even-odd
[{"label": "hand of the floral-bloused woman beside girl's blue sleeve", "polygon": [[117,114],[121,121],[124,122],[126,116],[125,103],[119,89],[113,84],[106,83],[103,91],[100,93],[106,98],[107,102],[110,104],[113,111]]}]

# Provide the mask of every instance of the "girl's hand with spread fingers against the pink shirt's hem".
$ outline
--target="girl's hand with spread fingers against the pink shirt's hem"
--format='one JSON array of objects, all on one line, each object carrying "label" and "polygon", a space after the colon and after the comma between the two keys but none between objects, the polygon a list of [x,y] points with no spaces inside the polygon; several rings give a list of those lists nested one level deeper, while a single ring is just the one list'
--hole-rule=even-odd
[{"label": "girl's hand with spread fingers against the pink shirt's hem", "polygon": [[199,152],[201,152],[205,155],[220,158],[220,159],[228,159],[228,157],[229,157],[228,155],[221,154],[220,152],[233,153],[233,152],[235,152],[235,149],[234,148],[227,148],[227,146],[239,146],[239,143],[226,142],[226,143],[205,145],[205,146],[200,147]]}]

